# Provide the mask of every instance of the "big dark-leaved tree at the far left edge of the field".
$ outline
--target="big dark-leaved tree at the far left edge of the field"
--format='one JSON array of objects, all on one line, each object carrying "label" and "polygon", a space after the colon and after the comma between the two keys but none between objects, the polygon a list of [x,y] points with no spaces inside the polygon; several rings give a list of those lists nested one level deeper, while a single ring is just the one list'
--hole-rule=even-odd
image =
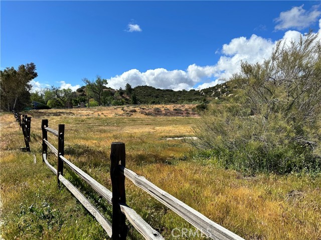
[{"label": "big dark-leaved tree at the far left edge of the field", "polygon": [[22,109],[30,104],[30,81],[38,76],[35,63],[7,67],[0,71],[1,108],[5,110]]}]

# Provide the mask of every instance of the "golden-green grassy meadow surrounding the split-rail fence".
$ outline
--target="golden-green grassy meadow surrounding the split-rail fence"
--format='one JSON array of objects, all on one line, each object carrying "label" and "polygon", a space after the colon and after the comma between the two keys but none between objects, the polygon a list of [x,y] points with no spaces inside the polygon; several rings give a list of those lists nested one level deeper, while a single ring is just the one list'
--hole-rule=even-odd
[{"label": "golden-green grassy meadow surrounding the split-rail fence", "polygon": [[[42,163],[41,119],[65,124],[65,157],[111,190],[110,144],[126,144],[126,167],[143,175],[213,221],[245,239],[321,239],[321,176],[262,173],[245,176],[168,137],[193,136],[194,105],[144,105],[31,110],[31,150],[12,113],[2,112],[1,221],[4,239],[108,239],[90,213]],[[48,139],[57,147],[56,138]],[[49,150],[48,150],[49,151]],[[33,154],[37,162],[34,163]],[[56,166],[56,157],[49,162]],[[64,174],[111,221],[111,205],[68,167]],[[128,179],[127,204],[166,239],[174,228],[192,228]],[[128,223],[128,239],[142,239]],[[189,238],[192,239],[192,238]],[[202,239],[202,237],[193,237]]]}]

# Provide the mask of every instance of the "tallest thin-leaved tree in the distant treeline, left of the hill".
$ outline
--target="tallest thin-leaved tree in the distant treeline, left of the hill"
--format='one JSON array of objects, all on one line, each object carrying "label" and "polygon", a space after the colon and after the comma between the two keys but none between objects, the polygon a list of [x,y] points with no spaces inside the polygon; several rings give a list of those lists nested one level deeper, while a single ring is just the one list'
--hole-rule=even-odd
[{"label": "tallest thin-leaved tree in the distant treeline, left of the hill", "polygon": [[107,80],[97,76],[95,81],[83,78],[83,82],[86,83],[87,96],[93,97],[99,105],[102,105],[109,95],[109,93],[104,92],[104,89],[106,89],[105,85],[108,83]]}]

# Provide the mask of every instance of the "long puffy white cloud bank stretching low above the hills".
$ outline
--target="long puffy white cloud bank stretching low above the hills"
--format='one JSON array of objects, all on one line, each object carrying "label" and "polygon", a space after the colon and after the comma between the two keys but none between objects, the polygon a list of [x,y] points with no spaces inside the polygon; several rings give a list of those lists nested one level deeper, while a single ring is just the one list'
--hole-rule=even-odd
[{"label": "long puffy white cloud bank stretching low above the hills", "polygon": [[[321,37],[321,19],[319,20]],[[285,43],[298,40],[301,33],[294,30],[286,31],[281,38]],[[206,88],[222,83],[239,72],[242,61],[249,63],[263,62],[270,57],[277,41],[266,39],[255,34],[250,38],[244,36],[232,39],[222,46],[222,56],[214,65],[199,66],[191,64],[186,70],[167,70],[165,68],[149,69],[140,72],[131,69],[116,75],[108,80],[108,86],[118,89],[128,82],[133,87],[137,85],[149,85],[156,88],[170,88],[174,90]]]}]

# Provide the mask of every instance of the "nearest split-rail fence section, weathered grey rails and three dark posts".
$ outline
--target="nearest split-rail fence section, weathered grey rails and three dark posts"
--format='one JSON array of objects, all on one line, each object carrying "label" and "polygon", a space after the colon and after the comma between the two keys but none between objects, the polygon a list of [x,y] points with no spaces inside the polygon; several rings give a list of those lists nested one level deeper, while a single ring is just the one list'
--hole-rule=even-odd
[{"label": "nearest split-rail fence section, weathered grey rails and three dark posts", "polygon": [[[125,177],[130,179],[136,186],[148,192],[158,201],[168,206],[203,234],[212,239],[243,239],[223,226],[210,220],[200,212],[175,198],[168,192],[155,186],[143,176],[125,167],[125,144],[122,142],[111,143],[110,152],[110,177],[112,192],[98,181],[93,179],[79,167],[64,157],[64,134],[65,125],[59,124],[58,130],[48,126],[48,120],[42,120],[42,157],[43,162],[57,175],[57,183],[63,183],[73,195],[84,205],[84,207],[97,219],[105,229],[108,236],[114,239],[126,239],[128,227],[125,219],[140,232],[145,239],[164,239],[164,237],[145,222],[132,208],[126,204]],[[48,141],[48,132],[58,138],[58,149]],[[57,156],[57,169],[48,162],[48,147]],[[63,176],[64,164],[85,180],[95,191],[97,191],[108,203],[112,204],[112,224],[93,206],[89,200]]]}]

